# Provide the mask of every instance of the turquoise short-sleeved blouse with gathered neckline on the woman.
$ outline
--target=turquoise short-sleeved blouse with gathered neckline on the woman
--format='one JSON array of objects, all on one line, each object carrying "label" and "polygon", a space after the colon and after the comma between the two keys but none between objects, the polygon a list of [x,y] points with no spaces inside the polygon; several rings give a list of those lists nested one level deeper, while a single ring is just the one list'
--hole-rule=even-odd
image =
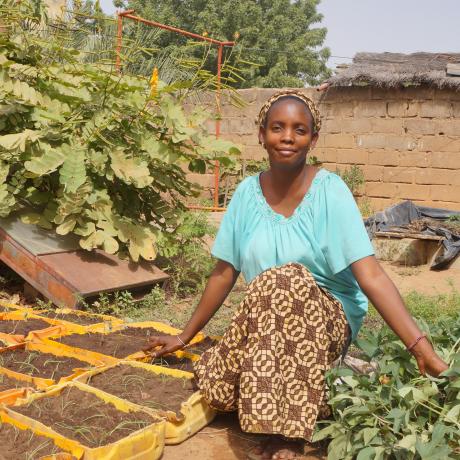
[{"label": "turquoise short-sleeved blouse with gathered neckline on the woman", "polygon": [[304,265],[342,303],[355,338],[367,298],[350,265],[374,249],[353,195],[339,176],[320,169],[292,216],[284,217],[265,200],[259,175],[236,189],[212,255],[233,265],[248,283],[272,267]]}]

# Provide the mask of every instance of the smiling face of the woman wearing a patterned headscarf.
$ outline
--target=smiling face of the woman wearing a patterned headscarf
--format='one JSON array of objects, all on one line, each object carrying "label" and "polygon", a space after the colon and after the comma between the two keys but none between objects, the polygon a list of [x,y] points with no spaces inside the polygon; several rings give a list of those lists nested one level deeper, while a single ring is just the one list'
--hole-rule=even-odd
[{"label": "smiling face of the woman wearing a patterned headscarf", "polygon": [[287,99],[273,104],[265,127],[259,131],[270,165],[292,169],[305,164],[308,151],[318,139],[312,130],[312,117],[303,102]]}]

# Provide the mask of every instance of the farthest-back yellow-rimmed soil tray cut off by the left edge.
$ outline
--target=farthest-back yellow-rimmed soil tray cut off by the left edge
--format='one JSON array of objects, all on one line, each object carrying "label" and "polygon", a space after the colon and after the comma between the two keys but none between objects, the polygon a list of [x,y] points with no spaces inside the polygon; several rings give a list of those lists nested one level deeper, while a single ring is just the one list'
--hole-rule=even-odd
[{"label": "farthest-back yellow-rimmed soil tray cut off by the left edge", "polygon": [[0,340],[7,345],[22,343],[33,336],[48,337],[65,332],[62,325],[53,324],[31,311],[16,310],[0,313]]}]

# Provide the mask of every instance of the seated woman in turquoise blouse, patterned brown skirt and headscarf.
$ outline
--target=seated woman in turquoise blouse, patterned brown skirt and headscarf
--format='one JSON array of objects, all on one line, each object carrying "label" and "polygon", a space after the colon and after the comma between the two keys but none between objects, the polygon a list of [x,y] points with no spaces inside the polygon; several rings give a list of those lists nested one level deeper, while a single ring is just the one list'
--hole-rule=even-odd
[{"label": "seated woman in turquoise blouse, patterned brown skirt and headscarf", "polygon": [[184,331],[153,337],[149,347],[161,356],[186,346],[243,272],[246,297],[222,340],[195,365],[197,382],[212,407],[238,410],[244,431],[277,435],[250,458],[301,458],[289,440],[311,439],[326,403],[325,372],[356,337],[367,298],[422,374],[447,365],[375,259],[347,186],[308,165],[321,127],[314,102],[281,91],[258,124],[270,169],[238,186],[212,249],[218,261]]}]

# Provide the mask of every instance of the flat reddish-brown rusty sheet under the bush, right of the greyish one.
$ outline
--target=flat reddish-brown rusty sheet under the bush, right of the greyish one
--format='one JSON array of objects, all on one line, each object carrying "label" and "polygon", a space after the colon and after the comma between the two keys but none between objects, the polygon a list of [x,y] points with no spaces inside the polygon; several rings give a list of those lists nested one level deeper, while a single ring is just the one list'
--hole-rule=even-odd
[{"label": "flat reddish-brown rusty sheet under the bush, right of the greyish one", "polygon": [[168,278],[166,273],[152,263],[120,260],[99,250],[47,254],[38,259],[56,278],[66,280],[83,297],[153,285]]}]

